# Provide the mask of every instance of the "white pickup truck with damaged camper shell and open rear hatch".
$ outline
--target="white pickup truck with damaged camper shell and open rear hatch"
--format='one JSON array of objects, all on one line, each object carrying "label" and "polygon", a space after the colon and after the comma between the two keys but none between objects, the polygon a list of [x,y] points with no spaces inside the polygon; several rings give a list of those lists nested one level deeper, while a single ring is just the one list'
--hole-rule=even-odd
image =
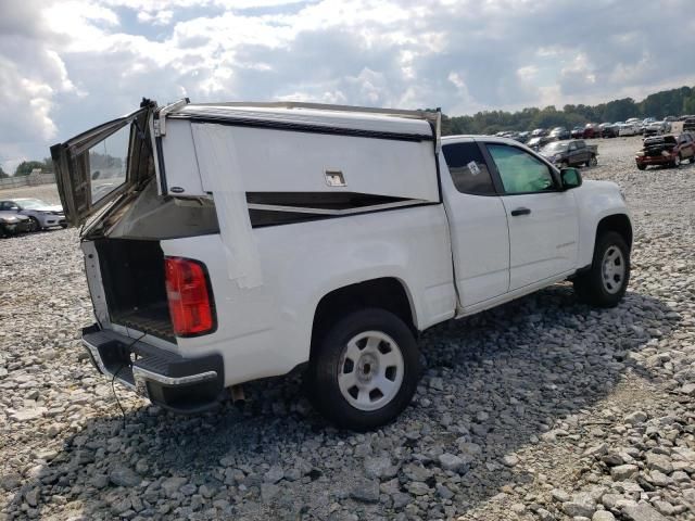
[{"label": "white pickup truck with damaged camper shell and open rear hatch", "polygon": [[172,410],[305,371],[367,430],[407,406],[420,331],[566,279],[617,305],[618,187],[440,113],[300,103],[141,107],[51,148],[97,323],[94,366]]}]

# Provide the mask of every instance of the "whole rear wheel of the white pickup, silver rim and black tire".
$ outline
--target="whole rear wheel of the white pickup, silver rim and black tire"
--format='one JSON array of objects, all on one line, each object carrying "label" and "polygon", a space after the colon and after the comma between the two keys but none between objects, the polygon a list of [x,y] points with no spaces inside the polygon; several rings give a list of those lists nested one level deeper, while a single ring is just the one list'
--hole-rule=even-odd
[{"label": "whole rear wheel of the white pickup, silver rim and black tire", "polygon": [[379,308],[351,313],[317,339],[309,366],[312,399],[339,427],[367,431],[410,403],[419,352],[410,329]]}]

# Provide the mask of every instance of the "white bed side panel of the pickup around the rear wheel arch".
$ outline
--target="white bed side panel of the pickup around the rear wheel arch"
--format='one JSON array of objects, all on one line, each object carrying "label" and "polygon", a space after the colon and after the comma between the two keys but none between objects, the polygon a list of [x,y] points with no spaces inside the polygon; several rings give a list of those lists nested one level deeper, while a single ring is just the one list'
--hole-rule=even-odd
[{"label": "white bed side panel of the pickup around the rear wheel arch", "polygon": [[316,306],[344,285],[396,278],[420,330],[454,315],[441,204],[256,228],[253,236],[263,276],[253,288],[230,278],[220,236],[162,242],[165,255],[195,258],[208,269],[217,330],[179,339],[178,346],[185,356],[223,354],[226,385],[283,374],[306,361]]}]

